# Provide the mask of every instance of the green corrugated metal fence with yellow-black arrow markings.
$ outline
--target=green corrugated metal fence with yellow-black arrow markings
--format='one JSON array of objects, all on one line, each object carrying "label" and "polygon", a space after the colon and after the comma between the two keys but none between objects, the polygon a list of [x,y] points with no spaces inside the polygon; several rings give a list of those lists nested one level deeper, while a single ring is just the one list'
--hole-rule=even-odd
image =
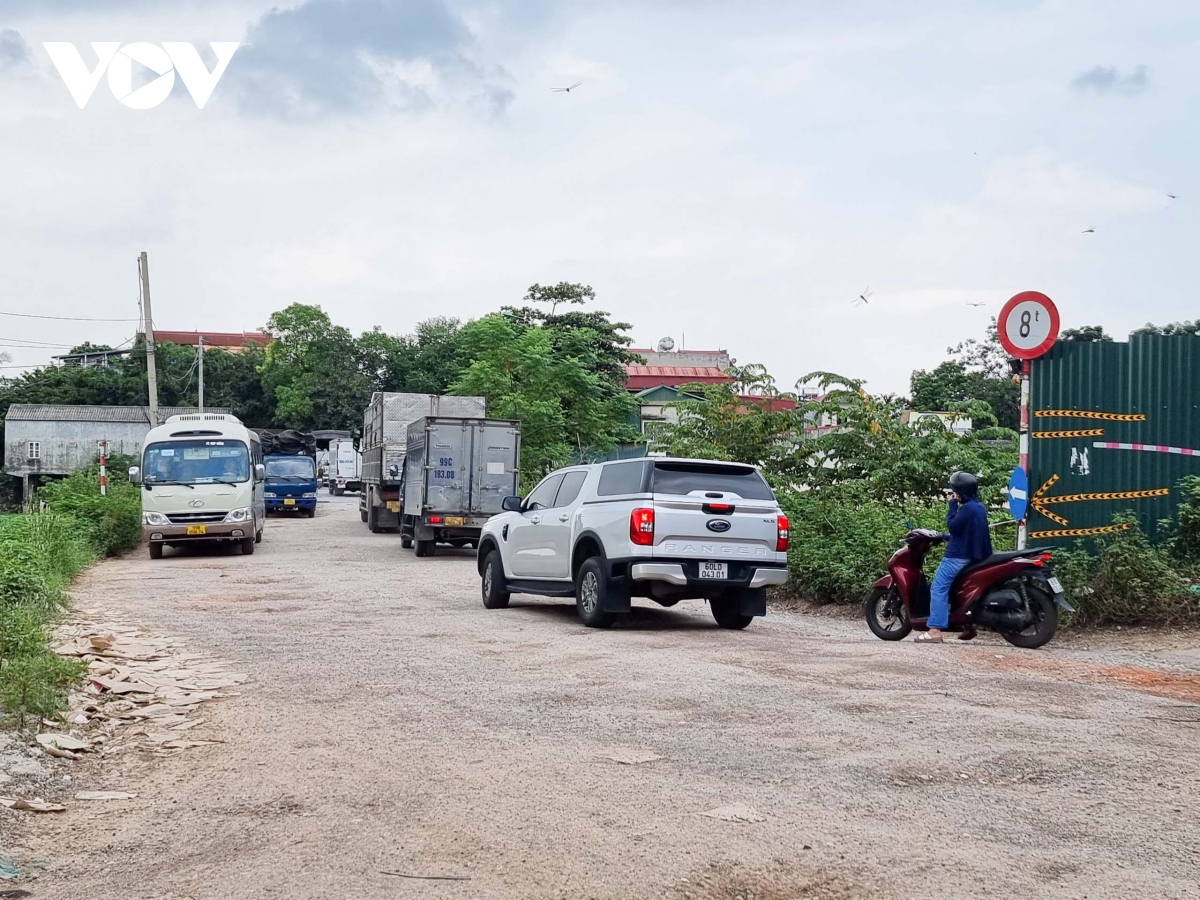
[{"label": "green corrugated metal fence with yellow-black arrow markings", "polygon": [[1030,377],[1030,541],[1088,540],[1124,511],[1153,535],[1200,474],[1200,337],[1060,341]]}]

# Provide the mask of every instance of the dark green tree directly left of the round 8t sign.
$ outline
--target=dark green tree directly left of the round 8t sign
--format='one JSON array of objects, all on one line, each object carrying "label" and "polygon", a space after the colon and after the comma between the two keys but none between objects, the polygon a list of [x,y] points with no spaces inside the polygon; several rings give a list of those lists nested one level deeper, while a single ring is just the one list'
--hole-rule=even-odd
[{"label": "dark green tree directly left of the round 8t sign", "polygon": [[[910,379],[912,407],[943,412],[977,401],[986,403],[995,420],[1015,431],[1021,419],[1021,389],[1013,382],[1008,353],[1000,343],[992,319],[983,341],[964,341],[947,350],[953,359],[931,371],[917,370]],[[985,425],[984,420],[976,424]]]}]

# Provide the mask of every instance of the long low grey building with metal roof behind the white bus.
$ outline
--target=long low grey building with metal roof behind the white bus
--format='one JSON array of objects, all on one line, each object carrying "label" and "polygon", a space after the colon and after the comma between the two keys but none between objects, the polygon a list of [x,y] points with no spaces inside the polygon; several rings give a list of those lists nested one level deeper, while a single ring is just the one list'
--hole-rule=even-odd
[{"label": "long low grey building with metal roof behind the white bus", "polygon": [[[199,412],[160,407],[158,416]],[[208,408],[209,413],[230,413]],[[109,456],[138,456],[150,431],[146,407],[76,407],[13,403],[4,420],[4,470],[22,479],[23,502],[46,478],[61,478],[100,458],[100,442]]]}]

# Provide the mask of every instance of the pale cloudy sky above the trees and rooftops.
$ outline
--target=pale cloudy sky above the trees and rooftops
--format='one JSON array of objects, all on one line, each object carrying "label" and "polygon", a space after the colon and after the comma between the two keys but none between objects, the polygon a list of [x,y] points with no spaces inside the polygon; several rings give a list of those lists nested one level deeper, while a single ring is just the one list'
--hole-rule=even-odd
[{"label": "pale cloudy sky above the trees and rooftops", "polygon": [[[204,109],[80,110],[44,41],[242,44]],[[1200,316],[1198,50],[1184,0],[0,0],[0,313],[134,319],[142,250],[161,329],[581,281],[640,344],[904,391],[1019,290]],[[134,329],[0,314],[0,352]]]}]

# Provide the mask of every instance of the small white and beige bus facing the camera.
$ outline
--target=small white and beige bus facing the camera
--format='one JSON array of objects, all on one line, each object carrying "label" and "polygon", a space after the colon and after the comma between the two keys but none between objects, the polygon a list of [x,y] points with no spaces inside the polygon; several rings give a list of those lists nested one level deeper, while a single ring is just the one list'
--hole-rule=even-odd
[{"label": "small white and beige bus facing the camera", "polygon": [[266,505],[263,445],[236,416],[173,415],[146,434],[142,466],[142,527],[150,558],[196,541],[235,541],[253,553],[263,540]]}]

